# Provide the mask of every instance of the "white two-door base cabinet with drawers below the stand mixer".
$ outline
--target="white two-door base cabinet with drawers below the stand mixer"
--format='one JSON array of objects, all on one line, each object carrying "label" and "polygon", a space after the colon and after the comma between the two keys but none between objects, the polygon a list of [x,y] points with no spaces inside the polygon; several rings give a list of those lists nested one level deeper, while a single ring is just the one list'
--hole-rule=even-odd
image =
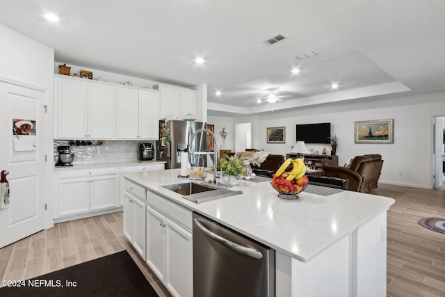
[{"label": "white two-door base cabinet with drawers below the stand mixer", "polygon": [[58,172],[56,218],[118,207],[118,168]]}]

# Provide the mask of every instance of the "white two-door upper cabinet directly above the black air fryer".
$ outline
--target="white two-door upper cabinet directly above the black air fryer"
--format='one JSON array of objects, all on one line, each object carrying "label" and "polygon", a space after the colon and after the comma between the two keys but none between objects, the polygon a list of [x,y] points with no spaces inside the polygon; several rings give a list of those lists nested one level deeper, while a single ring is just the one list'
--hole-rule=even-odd
[{"label": "white two-door upper cabinet directly above the black air fryer", "polygon": [[159,139],[159,93],[153,90],[118,88],[116,138]]}]

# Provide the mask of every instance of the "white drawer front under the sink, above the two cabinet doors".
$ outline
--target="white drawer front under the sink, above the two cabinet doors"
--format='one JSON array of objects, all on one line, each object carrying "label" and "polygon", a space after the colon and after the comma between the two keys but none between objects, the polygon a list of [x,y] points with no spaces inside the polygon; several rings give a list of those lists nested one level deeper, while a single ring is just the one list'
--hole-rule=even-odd
[{"label": "white drawer front under the sink, above the two cabinet doors", "polygon": [[155,209],[163,212],[170,219],[175,220],[177,223],[183,225],[188,230],[192,230],[192,212],[179,207],[179,205],[168,201],[166,198],[162,198],[155,193],[147,191],[147,203],[152,205]]}]

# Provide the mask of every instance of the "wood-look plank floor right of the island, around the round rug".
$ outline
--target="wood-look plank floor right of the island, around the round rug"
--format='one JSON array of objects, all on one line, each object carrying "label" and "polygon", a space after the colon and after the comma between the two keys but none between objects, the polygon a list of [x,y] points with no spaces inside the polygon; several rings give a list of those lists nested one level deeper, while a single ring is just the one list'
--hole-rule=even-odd
[{"label": "wood-look plank floor right of the island, around the round rug", "polygon": [[445,234],[419,225],[445,218],[445,191],[379,184],[394,198],[387,213],[387,296],[445,296]]}]

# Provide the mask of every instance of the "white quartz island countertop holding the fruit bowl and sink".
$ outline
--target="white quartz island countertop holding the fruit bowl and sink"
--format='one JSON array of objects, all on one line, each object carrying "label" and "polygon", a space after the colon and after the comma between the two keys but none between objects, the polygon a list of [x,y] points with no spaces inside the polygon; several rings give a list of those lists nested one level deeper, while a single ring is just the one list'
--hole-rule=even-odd
[{"label": "white quartz island countertop holding the fruit bowl and sink", "polygon": [[179,169],[124,173],[124,177],[165,198],[241,232],[302,262],[308,262],[367,220],[386,211],[394,199],[342,191],[329,196],[303,191],[298,200],[278,198],[269,182],[240,180],[243,194],[196,204],[165,184],[189,182]]}]

